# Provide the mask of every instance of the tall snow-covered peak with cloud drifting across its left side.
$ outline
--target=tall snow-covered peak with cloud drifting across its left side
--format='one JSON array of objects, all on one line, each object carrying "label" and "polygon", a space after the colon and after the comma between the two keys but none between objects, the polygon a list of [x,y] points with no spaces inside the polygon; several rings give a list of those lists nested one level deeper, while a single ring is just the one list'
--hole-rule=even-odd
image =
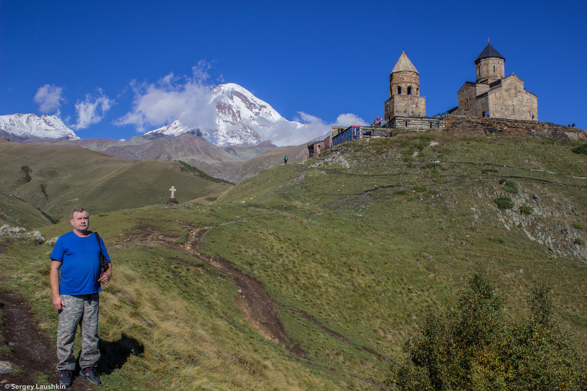
[{"label": "tall snow-covered peak with cloud drifting across its left side", "polygon": [[188,127],[176,120],[173,123],[151,130],[149,133],[160,133],[178,136],[191,132],[217,145],[257,145],[261,142],[259,131],[266,131],[288,125],[302,128],[305,124],[288,121],[268,103],[255,97],[250,91],[238,84],[220,84],[210,91],[210,105],[216,111],[215,129]]}]

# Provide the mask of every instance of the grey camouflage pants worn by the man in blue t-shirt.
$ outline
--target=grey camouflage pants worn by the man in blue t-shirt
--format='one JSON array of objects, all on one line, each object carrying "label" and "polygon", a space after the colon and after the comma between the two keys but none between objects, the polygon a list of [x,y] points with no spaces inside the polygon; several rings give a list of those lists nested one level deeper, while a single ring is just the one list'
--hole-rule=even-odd
[{"label": "grey camouflage pants worn by the man in blue t-shirt", "polygon": [[98,304],[100,294],[61,295],[65,307],[59,311],[59,328],[57,330],[58,370],[75,370],[73,341],[77,325],[82,329],[82,354],[79,358],[81,368],[96,366],[100,358],[98,349]]}]

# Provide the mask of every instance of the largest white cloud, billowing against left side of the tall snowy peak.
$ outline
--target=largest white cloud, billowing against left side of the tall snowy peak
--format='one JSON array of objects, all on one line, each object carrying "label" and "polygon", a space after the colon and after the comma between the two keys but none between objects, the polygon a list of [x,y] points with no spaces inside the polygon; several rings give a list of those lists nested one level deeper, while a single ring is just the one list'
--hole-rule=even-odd
[{"label": "largest white cloud, billowing against left side of the tall snowy peak", "polygon": [[[157,83],[131,83],[134,91],[133,110],[114,121],[116,125],[132,124],[137,132],[144,132],[150,125],[163,125],[179,120],[181,124],[214,129],[216,112],[210,104],[211,83],[208,71],[211,64],[198,62],[192,68],[192,77],[168,74]],[[185,80],[185,83],[180,83]]]}]

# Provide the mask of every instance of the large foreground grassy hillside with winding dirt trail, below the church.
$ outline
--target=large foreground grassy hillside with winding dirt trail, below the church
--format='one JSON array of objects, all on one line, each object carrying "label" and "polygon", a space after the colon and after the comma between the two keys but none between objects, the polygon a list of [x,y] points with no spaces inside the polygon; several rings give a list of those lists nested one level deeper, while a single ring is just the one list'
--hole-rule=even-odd
[{"label": "large foreground grassy hillside with winding dirt trail, below the church", "polygon": [[[477,265],[506,295],[510,321],[544,276],[585,356],[587,164],[577,145],[440,133],[353,141],[245,179],[214,205],[92,216],[116,261],[100,302],[103,348],[123,357],[103,387],[383,389],[384,359]],[[26,297],[55,338],[50,247],[4,246],[1,287]]]}]

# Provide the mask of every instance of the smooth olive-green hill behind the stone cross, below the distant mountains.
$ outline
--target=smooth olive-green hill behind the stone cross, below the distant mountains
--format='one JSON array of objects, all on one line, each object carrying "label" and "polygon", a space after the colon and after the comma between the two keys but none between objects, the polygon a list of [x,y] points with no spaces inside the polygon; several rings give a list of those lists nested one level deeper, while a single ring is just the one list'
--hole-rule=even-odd
[{"label": "smooth olive-green hill behind the stone cross, below the distant mountains", "polygon": [[[59,220],[79,206],[95,214],[165,203],[171,185],[178,189],[180,202],[220,195],[231,186],[182,167],[179,162],[119,159],[79,147],[0,144],[0,188]],[[31,220],[29,227],[38,224]]]}]

